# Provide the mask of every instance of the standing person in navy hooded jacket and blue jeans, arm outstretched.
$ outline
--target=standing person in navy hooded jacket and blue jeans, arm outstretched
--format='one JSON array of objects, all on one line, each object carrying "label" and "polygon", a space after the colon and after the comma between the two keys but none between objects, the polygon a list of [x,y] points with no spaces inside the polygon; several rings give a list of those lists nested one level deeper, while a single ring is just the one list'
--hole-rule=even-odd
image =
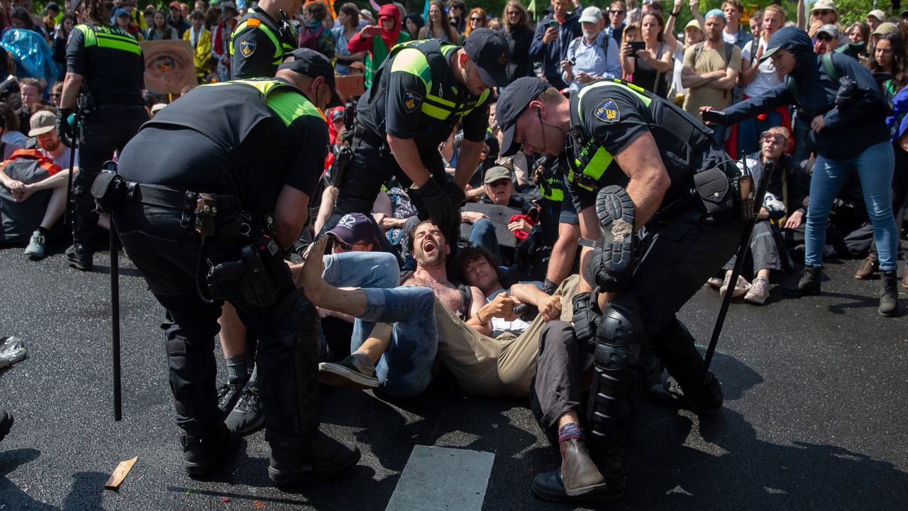
[{"label": "standing person in navy hooded jacket and blue jeans, arm outstretched", "polygon": [[799,115],[810,124],[817,153],[806,211],[804,271],[797,286],[786,288],[785,294],[820,293],[826,221],[835,195],[856,169],[879,252],[882,287],[877,312],[893,316],[898,308],[898,229],[892,205],[895,155],[886,125],[892,108],[870,70],[847,55],[814,54],[810,35],[795,26],[776,31],[762,58],[772,59],[779,75],[787,75],[785,82],[726,108],[725,124],[780,105],[797,105]]}]

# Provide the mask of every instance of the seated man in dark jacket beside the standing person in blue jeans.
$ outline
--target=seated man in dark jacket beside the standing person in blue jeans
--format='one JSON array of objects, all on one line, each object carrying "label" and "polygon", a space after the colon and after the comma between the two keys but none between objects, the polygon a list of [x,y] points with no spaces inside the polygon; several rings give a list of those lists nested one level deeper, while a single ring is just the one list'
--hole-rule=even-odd
[{"label": "seated man in dark jacket beside the standing person in blue jeans", "polygon": [[[754,304],[764,304],[769,297],[769,277],[772,271],[783,272],[785,266],[785,241],[780,229],[794,229],[804,223],[804,197],[807,195],[807,175],[790,155],[785,154],[789,145],[788,130],[775,126],[761,135],[762,148],[759,153],[749,155],[745,165],[758,183],[767,162],[773,162],[775,169],[769,188],[763,200],[763,207],[756,216],[754,232],[750,237],[750,250],[754,259],[754,281],[747,283],[738,276],[733,296],[744,295]],[[725,280],[719,289],[725,295],[732,276],[735,257],[725,265]]]}]

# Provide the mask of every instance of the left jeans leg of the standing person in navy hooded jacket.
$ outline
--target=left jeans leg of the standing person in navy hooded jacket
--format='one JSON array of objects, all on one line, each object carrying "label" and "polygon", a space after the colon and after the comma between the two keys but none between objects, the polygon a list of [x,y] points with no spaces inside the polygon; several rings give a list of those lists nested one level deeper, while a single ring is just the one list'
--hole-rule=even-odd
[{"label": "left jeans leg of the standing person in navy hooded jacket", "polygon": [[833,160],[822,155],[816,157],[814,175],[810,180],[810,206],[807,208],[807,226],[804,239],[804,265],[823,266],[823,245],[826,241],[826,220],[833,207],[835,195],[851,173],[853,159]]}]

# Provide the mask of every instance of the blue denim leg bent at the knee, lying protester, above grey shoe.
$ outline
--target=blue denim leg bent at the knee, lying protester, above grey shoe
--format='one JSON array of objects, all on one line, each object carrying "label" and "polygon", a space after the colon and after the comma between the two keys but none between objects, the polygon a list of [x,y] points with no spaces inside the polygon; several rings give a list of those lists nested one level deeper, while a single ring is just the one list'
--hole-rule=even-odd
[{"label": "blue denim leg bent at the knee, lying protester, above grey shoe", "polygon": [[[391,396],[416,396],[429,386],[438,352],[435,293],[428,287],[415,286],[364,291],[369,306],[362,317],[392,324],[388,351],[375,366],[380,388]],[[359,348],[363,340],[351,341],[350,351]]]}]

